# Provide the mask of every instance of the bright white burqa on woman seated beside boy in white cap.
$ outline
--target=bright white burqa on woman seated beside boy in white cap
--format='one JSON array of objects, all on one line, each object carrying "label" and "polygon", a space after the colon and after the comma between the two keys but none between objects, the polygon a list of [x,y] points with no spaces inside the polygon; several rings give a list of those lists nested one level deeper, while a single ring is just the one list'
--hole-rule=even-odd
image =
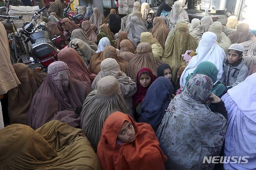
[{"label": "bright white burqa on woman seated beside boy in white cap", "polygon": [[213,32],[205,32],[203,33],[202,40],[200,40],[198,47],[196,49],[196,56],[193,56],[190,63],[187,65],[185,70],[183,71],[180,79],[180,85],[184,87],[186,82],[186,77],[193,73],[198,64],[202,61],[210,61],[216,65],[219,70],[217,75],[217,81],[221,79],[223,74],[223,62],[226,59],[226,54],[224,50],[217,45],[215,42],[217,40],[217,36]]}]

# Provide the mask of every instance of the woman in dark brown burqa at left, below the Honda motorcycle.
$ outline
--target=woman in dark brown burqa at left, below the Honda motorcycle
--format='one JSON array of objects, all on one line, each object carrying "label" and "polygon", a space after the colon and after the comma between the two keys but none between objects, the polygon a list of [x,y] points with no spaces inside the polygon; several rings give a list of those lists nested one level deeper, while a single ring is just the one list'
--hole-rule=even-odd
[{"label": "woman in dark brown burqa at left, below the Honda motorcycle", "polygon": [[28,124],[28,110],[37,88],[47,74],[32,71],[23,63],[12,65],[21,84],[8,91],[8,114],[10,123]]}]

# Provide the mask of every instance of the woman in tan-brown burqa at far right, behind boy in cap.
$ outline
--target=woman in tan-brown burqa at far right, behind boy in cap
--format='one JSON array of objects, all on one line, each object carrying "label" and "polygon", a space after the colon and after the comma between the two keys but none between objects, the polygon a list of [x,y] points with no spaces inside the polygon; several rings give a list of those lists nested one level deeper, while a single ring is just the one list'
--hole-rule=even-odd
[{"label": "woman in tan-brown burqa at far right, behind boy in cap", "polygon": [[242,43],[255,39],[255,36],[249,32],[249,25],[246,23],[238,24],[237,30],[227,36],[231,40],[231,44]]}]

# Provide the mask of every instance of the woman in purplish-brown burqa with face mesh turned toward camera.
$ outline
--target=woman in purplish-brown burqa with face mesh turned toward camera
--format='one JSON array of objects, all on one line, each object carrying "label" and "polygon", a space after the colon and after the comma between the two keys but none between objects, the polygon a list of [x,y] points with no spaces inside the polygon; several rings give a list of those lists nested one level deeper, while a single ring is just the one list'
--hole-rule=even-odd
[{"label": "woman in purplish-brown burqa with face mesh turned toward camera", "polygon": [[48,75],[32,99],[28,125],[37,129],[56,119],[73,127],[79,126],[82,102],[91,90],[87,83],[70,77],[66,63],[54,61],[48,66]]}]

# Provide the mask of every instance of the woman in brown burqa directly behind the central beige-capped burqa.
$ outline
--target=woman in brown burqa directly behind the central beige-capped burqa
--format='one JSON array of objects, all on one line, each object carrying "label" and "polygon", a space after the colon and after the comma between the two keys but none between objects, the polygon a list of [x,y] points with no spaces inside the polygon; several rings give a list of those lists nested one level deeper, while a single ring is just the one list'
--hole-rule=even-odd
[{"label": "woman in brown burqa directly behind the central beige-capped burqa", "polygon": [[89,65],[89,71],[94,74],[100,72],[100,63],[106,58],[114,58],[120,66],[121,71],[125,72],[128,66],[128,61],[117,56],[115,47],[106,46],[104,51],[93,54]]}]

